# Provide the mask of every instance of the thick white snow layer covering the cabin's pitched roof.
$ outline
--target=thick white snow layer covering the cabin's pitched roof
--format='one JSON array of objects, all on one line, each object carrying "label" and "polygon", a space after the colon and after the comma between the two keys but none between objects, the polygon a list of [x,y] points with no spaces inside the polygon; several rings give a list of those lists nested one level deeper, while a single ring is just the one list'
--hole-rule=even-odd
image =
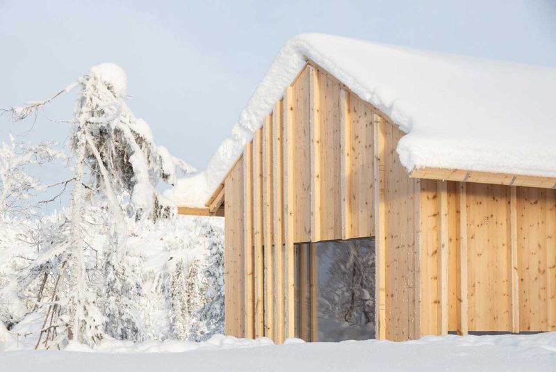
[{"label": "thick white snow layer covering the cabin's pitched roof", "polygon": [[202,207],[306,58],[407,133],[397,151],[408,171],[556,177],[556,68],[304,34],[279,51],[207,169],[167,196]]}]

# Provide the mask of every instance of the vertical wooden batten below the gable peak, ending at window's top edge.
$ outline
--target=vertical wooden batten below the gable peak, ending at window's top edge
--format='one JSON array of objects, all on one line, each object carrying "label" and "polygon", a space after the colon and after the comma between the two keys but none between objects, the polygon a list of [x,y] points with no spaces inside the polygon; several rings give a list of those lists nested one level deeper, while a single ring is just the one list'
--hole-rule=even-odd
[{"label": "vertical wooden batten below the gable peak, ending at window's top edge", "polygon": [[311,112],[309,118],[309,133],[311,136],[311,241],[320,241],[320,218],[322,215],[322,210],[320,209],[320,161],[322,156],[320,138],[320,88],[318,71],[313,66],[309,66],[309,87]]}]

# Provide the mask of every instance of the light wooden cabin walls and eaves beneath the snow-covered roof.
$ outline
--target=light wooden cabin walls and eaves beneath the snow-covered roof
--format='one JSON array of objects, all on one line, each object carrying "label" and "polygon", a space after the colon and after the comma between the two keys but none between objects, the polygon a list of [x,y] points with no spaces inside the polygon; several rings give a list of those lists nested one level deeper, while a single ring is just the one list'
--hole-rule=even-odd
[{"label": "light wooden cabin walls and eaves beneath the snow-covered roof", "polygon": [[206,208],[180,208],[225,218],[227,334],[322,341],[318,246],[350,241],[373,250],[367,338],[556,330],[556,179],[408,172],[402,136],[307,60]]}]

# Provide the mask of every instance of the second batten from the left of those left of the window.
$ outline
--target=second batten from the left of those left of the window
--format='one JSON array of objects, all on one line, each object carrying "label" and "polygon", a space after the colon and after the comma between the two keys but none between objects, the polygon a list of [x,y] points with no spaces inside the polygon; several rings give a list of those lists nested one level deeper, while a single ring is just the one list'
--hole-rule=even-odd
[{"label": "second batten from the left of those left of the window", "polygon": [[263,300],[263,149],[262,131],[253,138],[253,231],[254,231],[254,286],[255,286],[255,337],[264,336]]}]

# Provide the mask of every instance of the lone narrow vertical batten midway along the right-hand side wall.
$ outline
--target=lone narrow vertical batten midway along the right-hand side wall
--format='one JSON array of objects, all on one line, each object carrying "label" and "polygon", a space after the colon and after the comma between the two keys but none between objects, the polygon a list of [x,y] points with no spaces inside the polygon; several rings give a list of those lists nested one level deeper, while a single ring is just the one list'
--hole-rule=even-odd
[{"label": "lone narrow vertical batten midway along the right-hand side wall", "polygon": [[467,188],[457,184],[459,209],[459,249],[457,256],[457,334],[465,336],[467,325]]}]

